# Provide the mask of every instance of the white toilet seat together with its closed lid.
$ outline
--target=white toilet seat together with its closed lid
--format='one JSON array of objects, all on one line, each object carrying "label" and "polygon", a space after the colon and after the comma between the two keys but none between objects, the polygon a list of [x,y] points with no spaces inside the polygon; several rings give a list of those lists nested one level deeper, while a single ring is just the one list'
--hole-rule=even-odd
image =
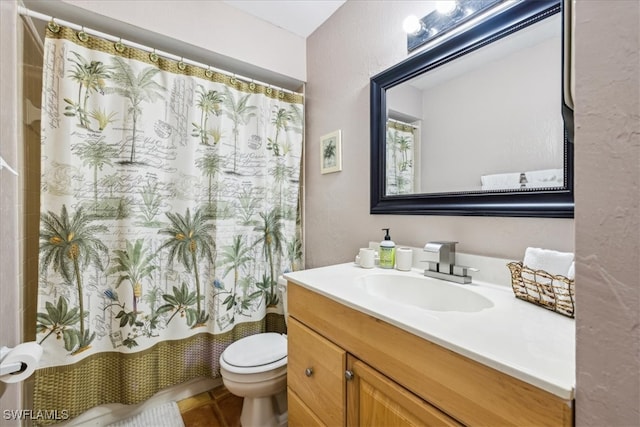
[{"label": "white toilet seat together with its closed lid", "polygon": [[220,365],[229,372],[253,374],[287,364],[287,339],[275,332],[250,335],[227,347]]}]

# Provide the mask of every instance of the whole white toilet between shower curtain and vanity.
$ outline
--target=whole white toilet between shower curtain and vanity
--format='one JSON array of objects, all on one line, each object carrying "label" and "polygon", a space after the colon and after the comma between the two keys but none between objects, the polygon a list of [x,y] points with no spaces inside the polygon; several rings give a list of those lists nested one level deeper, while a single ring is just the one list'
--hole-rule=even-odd
[{"label": "whole white toilet between shower curtain and vanity", "polygon": [[[287,319],[287,281],[278,279]],[[287,425],[287,337],[266,332],[242,338],[220,355],[220,375],[229,392],[244,398],[242,427]]]}]

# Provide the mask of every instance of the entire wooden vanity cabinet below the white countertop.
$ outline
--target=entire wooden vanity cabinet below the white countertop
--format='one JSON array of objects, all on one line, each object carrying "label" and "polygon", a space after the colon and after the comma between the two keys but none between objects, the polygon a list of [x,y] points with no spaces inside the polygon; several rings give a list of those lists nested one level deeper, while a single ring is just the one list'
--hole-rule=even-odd
[{"label": "entire wooden vanity cabinet below the white countertop", "polygon": [[289,425],[573,425],[572,401],[289,282]]}]

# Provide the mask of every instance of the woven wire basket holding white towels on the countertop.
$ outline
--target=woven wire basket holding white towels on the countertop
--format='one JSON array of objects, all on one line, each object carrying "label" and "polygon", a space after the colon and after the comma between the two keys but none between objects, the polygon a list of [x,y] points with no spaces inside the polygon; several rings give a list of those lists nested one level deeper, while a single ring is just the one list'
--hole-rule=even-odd
[{"label": "woven wire basket holding white towels on the countertop", "polygon": [[507,264],[511,270],[511,287],[516,298],[540,305],[565,316],[575,316],[575,281],[533,270],[522,262]]}]

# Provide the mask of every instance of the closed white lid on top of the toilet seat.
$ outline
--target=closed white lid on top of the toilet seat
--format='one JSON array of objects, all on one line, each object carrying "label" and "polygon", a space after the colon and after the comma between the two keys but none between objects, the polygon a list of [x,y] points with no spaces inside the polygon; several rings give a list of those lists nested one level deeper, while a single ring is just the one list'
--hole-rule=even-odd
[{"label": "closed white lid on top of the toilet seat", "polygon": [[234,342],[222,353],[226,363],[239,368],[264,366],[287,357],[287,339],[275,332],[255,334]]}]

